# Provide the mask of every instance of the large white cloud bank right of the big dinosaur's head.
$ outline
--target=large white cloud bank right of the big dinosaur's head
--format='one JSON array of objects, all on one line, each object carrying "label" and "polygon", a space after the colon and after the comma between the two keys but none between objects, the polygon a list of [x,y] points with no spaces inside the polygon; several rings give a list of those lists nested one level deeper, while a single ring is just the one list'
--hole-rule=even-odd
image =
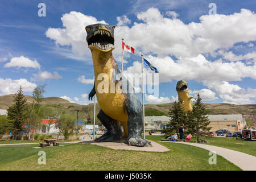
[{"label": "large white cloud bank right of the big dinosaur's head", "polygon": [[[256,15],[245,9],[232,15],[203,15],[199,23],[189,24],[165,18],[155,8],[139,13],[137,18],[142,23],[115,28],[115,39],[121,40],[125,35],[138,54],[142,51],[158,56],[194,57],[199,53],[230,48],[238,42],[256,40]],[[120,47],[121,43],[115,45]]]}]

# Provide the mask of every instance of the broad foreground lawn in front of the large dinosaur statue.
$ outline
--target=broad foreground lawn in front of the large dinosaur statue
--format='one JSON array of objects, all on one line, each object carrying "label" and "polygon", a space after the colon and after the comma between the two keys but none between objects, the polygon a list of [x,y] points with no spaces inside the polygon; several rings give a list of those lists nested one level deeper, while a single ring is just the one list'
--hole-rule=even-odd
[{"label": "broad foreground lawn in front of the large dinosaur statue", "polygon": [[[0,170],[241,170],[218,155],[217,165],[210,165],[209,151],[202,148],[163,144],[173,151],[112,150],[86,143],[45,148],[32,148],[37,144],[0,146]],[[40,150],[46,152],[46,165],[38,164]]]}]

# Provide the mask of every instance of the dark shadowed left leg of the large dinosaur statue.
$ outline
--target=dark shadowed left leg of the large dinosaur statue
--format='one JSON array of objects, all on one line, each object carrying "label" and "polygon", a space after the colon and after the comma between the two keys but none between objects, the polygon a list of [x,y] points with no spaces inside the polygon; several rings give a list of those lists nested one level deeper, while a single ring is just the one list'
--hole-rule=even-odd
[{"label": "dark shadowed left leg of the large dinosaur statue", "polygon": [[105,134],[103,134],[100,138],[95,139],[95,141],[112,142],[115,140],[120,140],[122,131],[117,121],[110,118],[102,110],[100,110],[100,113],[98,113],[97,117],[98,119],[100,119],[102,125],[104,125],[108,131]]}]

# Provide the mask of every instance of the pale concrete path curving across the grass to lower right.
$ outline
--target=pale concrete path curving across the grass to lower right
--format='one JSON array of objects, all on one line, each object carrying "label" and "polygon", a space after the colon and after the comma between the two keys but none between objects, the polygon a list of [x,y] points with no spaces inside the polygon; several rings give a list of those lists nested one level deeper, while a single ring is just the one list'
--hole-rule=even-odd
[{"label": "pale concrete path curving across the grass to lower right", "polygon": [[[164,141],[164,142],[168,142],[168,141]],[[174,142],[172,142],[172,143],[174,143]],[[216,154],[222,156],[226,160],[229,160],[229,162],[232,162],[233,164],[240,167],[244,171],[255,171],[256,170],[256,157],[253,155],[230,150],[228,148],[210,146],[208,144],[188,143],[188,142],[175,142],[175,143],[188,144],[190,146],[204,148],[209,151],[215,151]]]}]

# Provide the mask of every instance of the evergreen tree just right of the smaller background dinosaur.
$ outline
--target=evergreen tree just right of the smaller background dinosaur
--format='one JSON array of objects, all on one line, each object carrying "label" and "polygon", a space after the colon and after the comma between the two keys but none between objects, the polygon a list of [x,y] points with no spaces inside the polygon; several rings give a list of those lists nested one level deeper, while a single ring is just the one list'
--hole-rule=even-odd
[{"label": "evergreen tree just right of the smaller background dinosaur", "polygon": [[188,131],[191,134],[196,133],[197,142],[199,142],[199,136],[207,134],[211,129],[211,127],[208,127],[209,124],[210,121],[205,115],[205,106],[198,93],[193,104],[192,114],[190,115],[189,122],[187,123]]}]

